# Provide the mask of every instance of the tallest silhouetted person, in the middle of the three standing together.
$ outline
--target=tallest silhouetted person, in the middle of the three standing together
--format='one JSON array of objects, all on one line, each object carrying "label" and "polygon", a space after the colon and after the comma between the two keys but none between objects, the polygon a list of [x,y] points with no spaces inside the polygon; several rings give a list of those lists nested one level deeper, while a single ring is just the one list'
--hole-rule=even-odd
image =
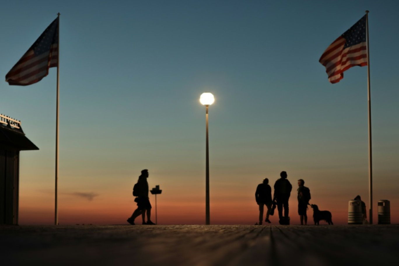
[{"label": "tallest silhouetted person, in the middle of the three standing together", "polygon": [[[274,189],[274,197],[273,201],[277,201],[277,210],[279,211],[279,223],[280,225],[288,225],[289,218],[288,218],[288,199],[291,195],[292,185],[290,181],[287,179],[287,172],[282,171],[280,173],[280,178],[277,179]],[[282,208],[284,207],[284,216],[282,216]]]}]

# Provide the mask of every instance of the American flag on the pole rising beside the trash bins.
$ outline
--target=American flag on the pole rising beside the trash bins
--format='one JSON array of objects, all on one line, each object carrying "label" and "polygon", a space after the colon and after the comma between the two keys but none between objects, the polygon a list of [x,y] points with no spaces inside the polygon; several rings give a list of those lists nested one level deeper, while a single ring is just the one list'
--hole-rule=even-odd
[{"label": "American flag on the pole rising beside the trash bins", "polygon": [[366,15],[331,43],[319,62],[326,67],[330,83],[340,82],[351,67],[367,65]]}]

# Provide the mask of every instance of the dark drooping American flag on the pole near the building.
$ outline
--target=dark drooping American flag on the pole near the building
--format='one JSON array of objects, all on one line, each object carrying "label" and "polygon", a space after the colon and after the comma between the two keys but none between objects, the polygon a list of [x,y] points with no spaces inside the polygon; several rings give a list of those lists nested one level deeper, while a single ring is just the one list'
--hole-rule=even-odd
[{"label": "dark drooping American flag on the pole near the building", "polygon": [[48,75],[50,67],[57,67],[58,24],[59,18],[56,18],[7,73],[9,85],[34,84]]}]

